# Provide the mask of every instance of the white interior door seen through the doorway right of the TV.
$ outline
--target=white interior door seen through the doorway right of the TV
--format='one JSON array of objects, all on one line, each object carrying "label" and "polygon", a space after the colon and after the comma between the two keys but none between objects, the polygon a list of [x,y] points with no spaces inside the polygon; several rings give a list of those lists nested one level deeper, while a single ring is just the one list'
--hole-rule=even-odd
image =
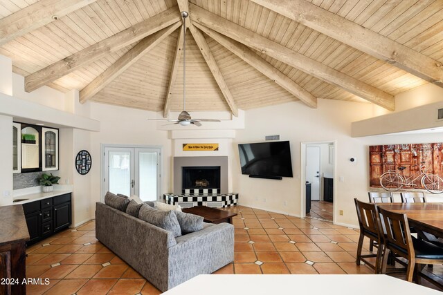
[{"label": "white interior door seen through the doorway right of the TV", "polygon": [[311,183],[311,200],[320,200],[320,146],[306,147],[306,181]]}]

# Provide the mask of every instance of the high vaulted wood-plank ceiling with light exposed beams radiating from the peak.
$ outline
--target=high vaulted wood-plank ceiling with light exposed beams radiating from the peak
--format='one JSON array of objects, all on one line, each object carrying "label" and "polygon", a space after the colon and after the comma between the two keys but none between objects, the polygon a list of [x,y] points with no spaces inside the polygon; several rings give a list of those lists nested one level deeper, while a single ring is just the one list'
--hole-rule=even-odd
[{"label": "high vaulted wood-plank ceiling with light exposed beams radiating from the peak", "polygon": [[0,0],[0,54],[24,75],[150,111],[231,111],[317,98],[395,109],[443,87],[443,0]]}]

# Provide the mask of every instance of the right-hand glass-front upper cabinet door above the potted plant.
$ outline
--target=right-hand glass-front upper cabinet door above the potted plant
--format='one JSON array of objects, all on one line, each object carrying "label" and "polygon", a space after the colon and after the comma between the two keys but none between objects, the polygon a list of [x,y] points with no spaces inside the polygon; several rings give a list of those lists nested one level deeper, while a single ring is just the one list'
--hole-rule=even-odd
[{"label": "right-hand glass-front upper cabinet door above the potted plant", "polygon": [[58,130],[42,128],[42,171],[58,170]]}]

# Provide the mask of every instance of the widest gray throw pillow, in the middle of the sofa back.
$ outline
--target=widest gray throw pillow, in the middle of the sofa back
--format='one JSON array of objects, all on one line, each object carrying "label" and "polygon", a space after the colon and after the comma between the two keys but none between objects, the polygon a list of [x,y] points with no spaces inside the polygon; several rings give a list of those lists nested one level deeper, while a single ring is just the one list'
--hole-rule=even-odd
[{"label": "widest gray throw pillow, in the middle of the sofa back", "polygon": [[150,222],[150,224],[156,227],[171,231],[174,238],[181,236],[179,221],[172,211],[156,210],[147,204],[143,204],[140,211],[138,211],[138,218]]}]

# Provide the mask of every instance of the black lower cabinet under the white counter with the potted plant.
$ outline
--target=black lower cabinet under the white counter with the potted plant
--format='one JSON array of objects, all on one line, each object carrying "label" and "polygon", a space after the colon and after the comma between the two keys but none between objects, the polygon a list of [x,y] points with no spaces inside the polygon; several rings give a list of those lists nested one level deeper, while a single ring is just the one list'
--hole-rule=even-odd
[{"label": "black lower cabinet under the white counter with the potted plant", "polygon": [[23,204],[31,245],[69,227],[72,222],[71,193]]}]

